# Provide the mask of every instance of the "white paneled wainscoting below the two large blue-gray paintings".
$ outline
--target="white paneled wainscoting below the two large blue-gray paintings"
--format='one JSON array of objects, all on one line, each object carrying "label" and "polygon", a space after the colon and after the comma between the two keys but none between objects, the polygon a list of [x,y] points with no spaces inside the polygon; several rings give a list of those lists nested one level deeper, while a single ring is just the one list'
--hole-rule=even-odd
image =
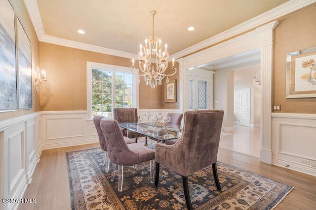
[{"label": "white paneled wainscoting below the two large blue-gray paintings", "polygon": [[[0,121],[0,197],[22,198],[39,161],[38,113]],[[18,204],[0,203],[1,210]]]}]

